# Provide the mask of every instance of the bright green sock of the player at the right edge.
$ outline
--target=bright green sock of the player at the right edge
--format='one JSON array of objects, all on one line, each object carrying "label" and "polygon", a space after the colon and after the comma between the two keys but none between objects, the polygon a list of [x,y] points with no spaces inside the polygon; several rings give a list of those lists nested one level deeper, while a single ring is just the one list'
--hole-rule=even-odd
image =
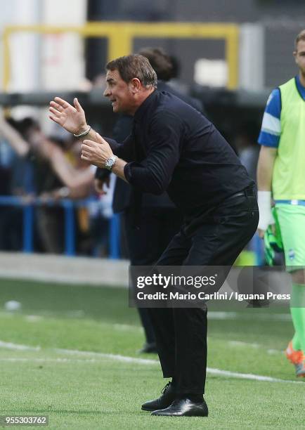
[{"label": "bright green sock of the player at the right edge", "polygon": [[292,284],[290,312],[295,330],[292,348],[305,353],[305,285]]}]

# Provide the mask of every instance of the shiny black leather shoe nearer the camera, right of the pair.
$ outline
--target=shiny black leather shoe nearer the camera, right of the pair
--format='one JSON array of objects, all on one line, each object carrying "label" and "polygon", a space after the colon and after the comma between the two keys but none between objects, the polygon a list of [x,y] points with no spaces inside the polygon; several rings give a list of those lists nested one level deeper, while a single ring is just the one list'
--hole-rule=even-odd
[{"label": "shiny black leather shoe nearer the camera, right of the pair", "polygon": [[205,400],[195,403],[189,398],[177,398],[168,408],[152,412],[152,415],[162,417],[207,417],[208,414]]}]

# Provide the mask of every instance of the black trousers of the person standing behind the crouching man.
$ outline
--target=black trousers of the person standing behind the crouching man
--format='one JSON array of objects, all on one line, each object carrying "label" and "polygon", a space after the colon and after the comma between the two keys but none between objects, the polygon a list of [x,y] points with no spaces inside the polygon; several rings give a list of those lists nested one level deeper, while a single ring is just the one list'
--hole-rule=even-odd
[{"label": "black trousers of the person standing behind the crouching man", "polygon": [[[174,207],[143,207],[140,228],[134,228],[131,211],[124,211],[124,228],[131,266],[152,266],[181,228],[183,217]],[[138,308],[145,338],[155,342],[150,313]]]}]

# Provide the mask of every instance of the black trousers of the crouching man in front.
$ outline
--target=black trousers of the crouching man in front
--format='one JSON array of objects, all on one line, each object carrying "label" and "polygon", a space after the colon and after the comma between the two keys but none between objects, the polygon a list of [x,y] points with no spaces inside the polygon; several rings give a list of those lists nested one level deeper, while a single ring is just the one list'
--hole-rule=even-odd
[{"label": "black trousers of the crouching man in front", "polygon": [[[157,266],[232,266],[258,221],[253,190],[230,197],[195,233],[181,228]],[[207,308],[150,308],[150,317],[163,376],[174,378],[178,393],[205,393]]]}]

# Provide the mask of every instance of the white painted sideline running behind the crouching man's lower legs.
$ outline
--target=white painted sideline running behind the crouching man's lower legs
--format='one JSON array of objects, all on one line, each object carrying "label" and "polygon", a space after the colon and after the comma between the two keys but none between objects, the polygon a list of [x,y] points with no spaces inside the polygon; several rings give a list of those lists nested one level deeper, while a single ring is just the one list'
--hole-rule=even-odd
[{"label": "white painted sideline running behind the crouching man's lower legs", "polygon": [[[11,342],[0,341],[0,348],[8,348],[15,349],[18,351],[41,351],[40,346],[26,346],[19,344],[12,344]],[[137,363],[144,365],[158,365],[159,362],[157,360],[149,360],[145,358],[134,358],[134,357],[126,357],[120,356],[119,354],[107,354],[107,353],[98,353],[94,351],[78,351],[74,349],[63,349],[63,348],[54,348],[51,351],[56,353],[63,353],[69,355],[78,355],[78,356],[94,356],[96,358],[110,358],[111,360],[117,360],[124,363]],[[0,361],[32,361],[32,362],[42,362],[42,361],[54,361],[57,363],[68,363],[68,362],[77,362],[77,363],[98,363],[99,360],[96,359],[68,359],[68,358],[0,358]],[[262,382],[282,382],[285,384],[304,384],[304,382],[300,381],[291,381],[289,379],[277,379],[272,377],[265,377],[259,374],[252,373],[239,373],[239,372],[231,372],[230,370],[220,370],[214,369],[212,367],[207,367],[207,373],[217,374],[219,376],[229,377],[229,378],[238,378],[238,379],[250,379],[252,381],[262,381]]]}]

